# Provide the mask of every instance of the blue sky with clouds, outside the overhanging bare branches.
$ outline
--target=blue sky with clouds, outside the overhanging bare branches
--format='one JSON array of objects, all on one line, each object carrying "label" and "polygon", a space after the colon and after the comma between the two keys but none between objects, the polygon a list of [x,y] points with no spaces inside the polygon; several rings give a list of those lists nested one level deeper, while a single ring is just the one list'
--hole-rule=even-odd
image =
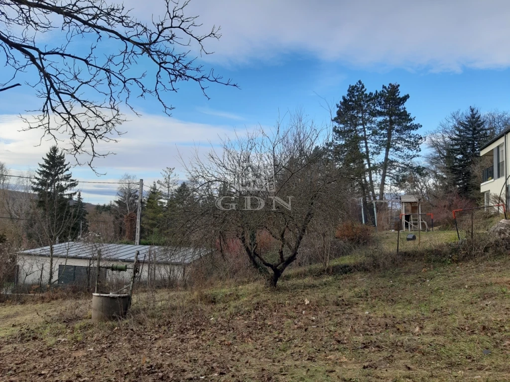
[{"label": "blue sky with clouds, outside the overhanging bare branches", "polygon": [[[172,118],[154,99],[137,101],[142,117],[128,114],[120,142],[104,145],[117,155],[95,163],[106,175],[97,178],[87,167],[73,168],[73,174],[109,181],[127,172],[147,183],[170,166],[184,177],[178,152],[186,161],[195,146],[203,154],[218,135],[272,126],[278,114],[297,107],[315,122],[328,123],[321,97],[334,105],[359,79],[369,91],[400,84],[424,135],[470,105],[482,112],[510,110],[510,4],[381,3],[193,0],[188,10],[200,15],[203,28],[222,26],[222,38],[209,45],[215,53],[201,62],[240,89],[211,86],[208,100],[196,86],[182,84],[170,97]],[[157,0],[147,0],[143,9],[134,0],[124,4],[141,19],[161,9]],[[35,169],[50,145],[36,147],[37,131],[18,131],[23,124],[16,115],[37,102],[27,86],[0,93],[0,161],[13,173]],[[114,188],[84,185],[83,194],[89,202],[104,203]]]}]

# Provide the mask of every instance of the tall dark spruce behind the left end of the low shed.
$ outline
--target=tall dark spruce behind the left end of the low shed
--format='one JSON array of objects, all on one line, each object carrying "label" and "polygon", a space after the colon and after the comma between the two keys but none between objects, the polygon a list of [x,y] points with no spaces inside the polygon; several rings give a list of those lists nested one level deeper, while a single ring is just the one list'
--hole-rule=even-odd
[{"label": "tall dark spruce behind the left end of the low shed", "polygon": [[49,280],[53,280],[53,246],[58,240],[64,241],[72,235],[73,213],[70,201],[76,194],[73,189],[78,182],[72,179],[70,165],[63,152],[52,146],[43,162],[39,163],[36,176],[32,181],[32,190],[37,194],[37,207],[40,211],[34,222],[35,235],[44,245],[49,245]]}]

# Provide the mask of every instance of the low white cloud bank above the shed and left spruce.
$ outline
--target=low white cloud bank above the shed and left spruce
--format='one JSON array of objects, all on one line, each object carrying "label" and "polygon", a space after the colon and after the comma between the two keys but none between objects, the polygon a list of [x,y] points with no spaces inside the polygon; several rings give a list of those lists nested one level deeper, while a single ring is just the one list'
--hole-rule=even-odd
[{"label": "low white cloud bank above the shed and left spruce", "polygon": [[[227,126],[207,125],[180,121],[166,116],[128,115],[129,122],[121,126],[118,143],[102,143],[101,152],[112,151],[116,155],[97,158],[94,166],[106,176],[96,178],[87,167],[75,167],[73,175],[81,180],[116,182],[127,172],[143,177],[147,184],[155,180],[165,167],[174,167],[176,173],[184,178],[181,164],[198,152],[205,155],[220,139],[233,130]],[[41,130],[21,131],[24,124],[19,117],[0,115],[0,161],[17,171],[37,168],[54,141],[42,140]],[[59,145],[63,147],[63,145]],[[72,158],[68,158],[72,163]],[[116,185],[81,184],[86,201],[103,203],[115,194]],[[100,196],[103,196],[103,199]],[[90,198],[90,199],[88,199]]]}]

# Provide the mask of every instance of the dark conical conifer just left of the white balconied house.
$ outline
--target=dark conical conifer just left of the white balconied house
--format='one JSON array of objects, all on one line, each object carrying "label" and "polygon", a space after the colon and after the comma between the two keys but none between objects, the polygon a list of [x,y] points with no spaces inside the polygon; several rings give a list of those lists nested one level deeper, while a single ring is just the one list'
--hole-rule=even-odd
[{"label": "dark conical conifer just left of the white balconied house", "polygon": [[473,165],[480,156],[480,147],[489,140],[483,118],[477,108],[470,106],[469,113],[458,121],[451,138],[451,173],[458,193],[466,198],[479,196],[479,184]]}]

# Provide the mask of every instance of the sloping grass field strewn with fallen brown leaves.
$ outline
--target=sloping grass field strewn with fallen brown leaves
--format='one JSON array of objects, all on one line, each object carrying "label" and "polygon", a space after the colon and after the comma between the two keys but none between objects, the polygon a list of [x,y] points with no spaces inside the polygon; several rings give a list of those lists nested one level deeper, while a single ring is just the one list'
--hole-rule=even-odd
[{"label": "sloping grass field strewn with fallen brown leaves", "polygon": [[138,294],[133,316],[105,324],[89,298],[6,304],[0,380],[507,381],[509,267],[413,261]]}]

